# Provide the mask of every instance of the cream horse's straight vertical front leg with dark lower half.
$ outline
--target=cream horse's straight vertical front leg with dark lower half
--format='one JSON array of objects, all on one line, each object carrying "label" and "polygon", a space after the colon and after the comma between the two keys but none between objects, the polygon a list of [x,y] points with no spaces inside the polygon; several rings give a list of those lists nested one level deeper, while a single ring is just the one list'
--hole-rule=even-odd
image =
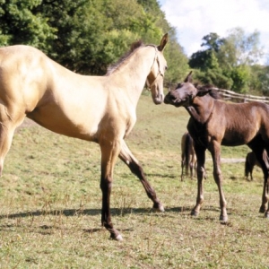
[{"label": "cream horse's straight vertical front leg with dark lower half", "polygon": [[110,232],[110,238],[122,240],[120,233],[113,227],[110,213],[110,195],[113,181],[113,170],[117,161],[119,143],[102,142],[101,150],[101,176],[100,189],[102,191],[101,224]]}]

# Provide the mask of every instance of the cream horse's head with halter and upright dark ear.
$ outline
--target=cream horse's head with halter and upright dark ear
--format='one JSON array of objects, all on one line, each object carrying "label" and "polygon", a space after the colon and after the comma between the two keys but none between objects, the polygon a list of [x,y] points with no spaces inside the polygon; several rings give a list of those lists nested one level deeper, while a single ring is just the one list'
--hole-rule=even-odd
[{"label": "cream horse's head with halter and upright dark ear", "polygon": [[163,49],[168,42],[168,34],[165,34],[161,39],[161,44],[155,48],[155,56],[152,63],[152,68],[147,76],[147,85],[152,91],[152,100],[157,104],[163,101],[163,77],[167,69],[167,63],[163,56]]}]

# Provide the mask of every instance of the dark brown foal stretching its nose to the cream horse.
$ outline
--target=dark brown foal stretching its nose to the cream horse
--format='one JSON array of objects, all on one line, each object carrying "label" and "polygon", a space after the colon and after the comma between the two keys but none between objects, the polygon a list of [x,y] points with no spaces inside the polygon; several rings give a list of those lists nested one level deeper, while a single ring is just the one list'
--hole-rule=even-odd
[{"label": "dark brown foal stretching its nose to the cream horse", "polygon": [[[191,73],[176,90],[169,91],[164,102],[175,107],[184,107],[190,115],[187,130],[195,141],[197,156],[198,193],[192,215],[200,212],[204,201],[205,150],[213,157],[213,178],[219,188],[220,221],[228,221],[226,200],[222,191],[221,144],[237,146],[247,144],[256,154],[264,172],[264,191],[260,213],[269,218],[269,165],[264,150],[269,152],[269,106],[261,102],[230,104],[215,100],[217,91],[210,86],[192,84]],[[266,209],[267,206],[267,209]]]}]

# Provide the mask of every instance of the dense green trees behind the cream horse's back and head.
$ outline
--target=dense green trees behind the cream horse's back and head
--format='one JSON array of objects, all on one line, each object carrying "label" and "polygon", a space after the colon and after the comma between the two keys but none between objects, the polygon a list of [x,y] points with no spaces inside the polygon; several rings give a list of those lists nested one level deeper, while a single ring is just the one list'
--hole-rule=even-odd
[{"label": "dense green trees behind the cream horse's back and head", "polygon": [[[28,44],[81,74],[105,74],[137,39],[159,44],[169,32],[169,81],[187,56],[156,0],[0,0],[0,45]],[[175,59],[178,59],[175,61]],[[181,65],[181,66],[183,66]]]}]

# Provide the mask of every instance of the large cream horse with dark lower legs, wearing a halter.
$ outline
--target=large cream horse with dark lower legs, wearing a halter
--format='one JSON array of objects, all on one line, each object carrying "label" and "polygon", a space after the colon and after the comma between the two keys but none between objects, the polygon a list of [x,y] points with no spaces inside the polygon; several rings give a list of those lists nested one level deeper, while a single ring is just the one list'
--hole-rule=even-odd
[{"label": "large cream horse with dark lower legs, wearing a halter", "polygon": [[15,128],[24,117],[30,117],[57,134],[100,144],[101,223],[112,239],[122,239],[110,215],[117,156],[141,180],[153,207],[163,211],[124,138],[134,127],[136,105],[146,81],[153,102],[163,101],[167,64],[162,52],[167,41],[165,34],[159,46],[134,43],[130,52],[105,76],[75,74],[36,48],[0,48],[0,173]]}]

